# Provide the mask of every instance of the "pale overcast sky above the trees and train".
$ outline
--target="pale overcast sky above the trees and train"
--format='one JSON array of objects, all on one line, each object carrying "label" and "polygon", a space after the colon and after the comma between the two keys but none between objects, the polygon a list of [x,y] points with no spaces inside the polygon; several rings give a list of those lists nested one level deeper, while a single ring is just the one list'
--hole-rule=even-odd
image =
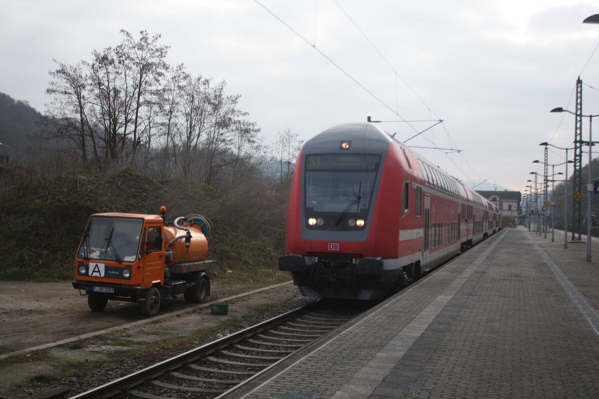
[{"label": "pale overcast sky above the trees and train", "polygon": [[[540,142],[572,146],[573,115],[549,110],[574,111],[578,75],[583,113],[599,114],[599,25],[582,24],[599,13],[599,0],[259,3],[0,0],[0,92],[44,112],[53,59],[90,60],[92,50],[122,41],[120,29],[136,39],[146,30],[171,46],[170,65],[241,94],[240,109],[267,140],[292,129],[305,141],[369,115],[443,119],[407,144],[462,150],[415,148],[459,179],[512,190],[542,173],[531,163],[543,159]],[[380,126],[404,141],[432,124]],[[596,132],[595,140],[599,123]],[[549,163],[564,155],[550,152]]]}]

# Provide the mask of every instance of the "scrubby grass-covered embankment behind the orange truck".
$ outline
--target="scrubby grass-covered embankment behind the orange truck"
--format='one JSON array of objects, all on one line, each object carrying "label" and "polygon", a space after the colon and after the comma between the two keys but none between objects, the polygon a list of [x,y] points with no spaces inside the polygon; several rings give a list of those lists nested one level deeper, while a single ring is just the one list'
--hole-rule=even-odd
[{"label": "scrubby grass-covered embankment behind the orange truck", "polygon": [[285,238],[286,193],[247,184],[226,193],[176,179],[152,181],[123,169],[111,175],[67,172],[43,178],[0,167],[0,279],[70,280],[87,218],[95,212],[202,214],[214,224],[212,278],[262,285],[288,280],[277,269]]}]

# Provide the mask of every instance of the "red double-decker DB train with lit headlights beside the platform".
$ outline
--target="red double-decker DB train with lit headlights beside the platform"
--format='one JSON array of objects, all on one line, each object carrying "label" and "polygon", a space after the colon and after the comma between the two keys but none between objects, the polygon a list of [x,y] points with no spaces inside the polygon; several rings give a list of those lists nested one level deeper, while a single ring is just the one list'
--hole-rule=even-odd
[{"label": "red double-decker DB train with lit headlights beside the platform", "polygon": [[497,206],[376,125],[338,124],[299,153],[279,269],[304,296],[380,299],[500,229]]}]

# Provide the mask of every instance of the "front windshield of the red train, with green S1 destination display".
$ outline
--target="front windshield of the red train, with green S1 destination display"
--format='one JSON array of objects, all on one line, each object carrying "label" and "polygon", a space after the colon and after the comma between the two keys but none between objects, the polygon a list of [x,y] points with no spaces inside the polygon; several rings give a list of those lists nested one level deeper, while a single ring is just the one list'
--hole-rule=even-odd
[{"label": "front windshield of the red train, with green S1 destination display", "polygon": [[365,214],[376,183],[380,156],[307,156],[305,206],[308,212]]}]

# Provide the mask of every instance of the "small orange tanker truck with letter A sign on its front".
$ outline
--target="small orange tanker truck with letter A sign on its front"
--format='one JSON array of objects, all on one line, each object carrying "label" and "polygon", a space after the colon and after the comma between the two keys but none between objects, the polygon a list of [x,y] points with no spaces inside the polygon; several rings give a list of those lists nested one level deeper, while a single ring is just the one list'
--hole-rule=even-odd
[{"label": "small orange tanker truck with letter A sign on its front", "polygon": [[93,214],[75,255],[73,288],[87,296],[94,312],[108,300],[141,304],[141,314],[154,316],[164,297],[183,294],[191,303],[210,295],[206,260],[210,220],[201,215],[166,222],[158,215]]}]

